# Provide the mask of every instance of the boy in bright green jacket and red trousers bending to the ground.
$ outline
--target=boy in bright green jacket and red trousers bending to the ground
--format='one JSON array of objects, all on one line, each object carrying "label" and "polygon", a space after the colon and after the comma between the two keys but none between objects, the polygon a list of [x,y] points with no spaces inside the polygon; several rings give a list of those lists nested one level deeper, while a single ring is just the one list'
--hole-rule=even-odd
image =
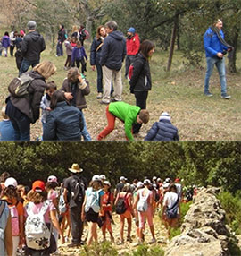
[{"label": "boy in bright green jacket and red trousers bending to the ground", "polygon": [[125,132],[127,140],[134,141],[132,135],[132,125],[147,124],[149,121],[149,112],[146,109],[140,109],[140,107],[129,105],[125,102],[112,102],[106,107],[107,126],[102,132],[99,133],[97,140],[103,140],[114,129],[115,118],[118,117],[125,123]]}]

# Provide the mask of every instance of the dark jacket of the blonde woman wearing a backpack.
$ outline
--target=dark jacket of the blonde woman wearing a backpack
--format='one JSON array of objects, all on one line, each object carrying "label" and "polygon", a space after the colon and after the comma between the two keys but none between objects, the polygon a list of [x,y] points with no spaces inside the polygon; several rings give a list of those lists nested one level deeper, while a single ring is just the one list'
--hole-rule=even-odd
[{"label": "dark jacket of the blonde woman wearing a backpack", "polygon": [[28,88],[29,95],[21,98],[15,98],[10,95],[10,100],[12,105],[17,107],[21,113],[27,115],[30,122],[34,124],[39,118],[39,107],[46,90],[46,81],[42,75],[35,71],[30,71],[29,75],[34,78]]}]

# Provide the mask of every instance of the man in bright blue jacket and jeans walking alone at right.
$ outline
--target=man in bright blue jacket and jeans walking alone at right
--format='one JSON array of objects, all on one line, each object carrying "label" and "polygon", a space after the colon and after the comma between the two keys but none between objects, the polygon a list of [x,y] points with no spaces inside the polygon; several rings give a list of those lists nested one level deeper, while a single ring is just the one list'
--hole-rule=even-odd
[{"label": "man in bright blue jacket and jeans walking alone at right", "polygon": [[[227,94],[226,74],[225,74],[225,59],[224,55],[231,48],[224,45],[224,33],[221,30],[222,21],[214,21],[213,27],[209,27],[204,33],[204,49],[206,53],[207,70],[204,82],[204,95],[212,97],[209,91],[209,80],[212,75],[214,64],[220,74],[221,98],[231,98]],[[220,33],[220,38],[218,33]]]}]

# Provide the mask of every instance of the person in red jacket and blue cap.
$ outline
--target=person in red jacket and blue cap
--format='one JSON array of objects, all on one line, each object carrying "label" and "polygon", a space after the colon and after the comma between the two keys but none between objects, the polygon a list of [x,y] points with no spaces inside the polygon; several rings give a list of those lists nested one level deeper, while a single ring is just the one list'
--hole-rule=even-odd
[{"label": "person in red jacket and blue cap", "polygon": [[125,78],[128,78],[129,66],[133,63],[135,55],[137,55],[140,47],[140,38],[136,33],[136,30],[132,27],[127,30],[127,57],[126,57],[126,73]]}]

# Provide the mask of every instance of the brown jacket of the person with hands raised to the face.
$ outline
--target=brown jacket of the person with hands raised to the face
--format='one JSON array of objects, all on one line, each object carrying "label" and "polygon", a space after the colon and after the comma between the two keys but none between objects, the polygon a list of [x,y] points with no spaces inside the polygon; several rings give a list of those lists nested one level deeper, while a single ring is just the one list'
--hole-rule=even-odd
[{"label": "brown jacket of the person with hands raised to the face", "polygon": [[[67,78],[64,79],[62,83],[62,88],[60,90],[63,90],[64,92],[72,92],[71,82],[69,82]],[[75,92],[75,98],[73,98],[71,102],[69,102],[70,105],[74,105],[75,107],[78,107],[79,110],[83,108],[87,108],[87,101],[86,101],[85,95],[88,95],[89,93],[90,93],[90,89],[89,89],[88,81],[86,81],[86,84],[83,84],[83,85],[80,85],[80,83],[78,83],[76,92]]]}]

